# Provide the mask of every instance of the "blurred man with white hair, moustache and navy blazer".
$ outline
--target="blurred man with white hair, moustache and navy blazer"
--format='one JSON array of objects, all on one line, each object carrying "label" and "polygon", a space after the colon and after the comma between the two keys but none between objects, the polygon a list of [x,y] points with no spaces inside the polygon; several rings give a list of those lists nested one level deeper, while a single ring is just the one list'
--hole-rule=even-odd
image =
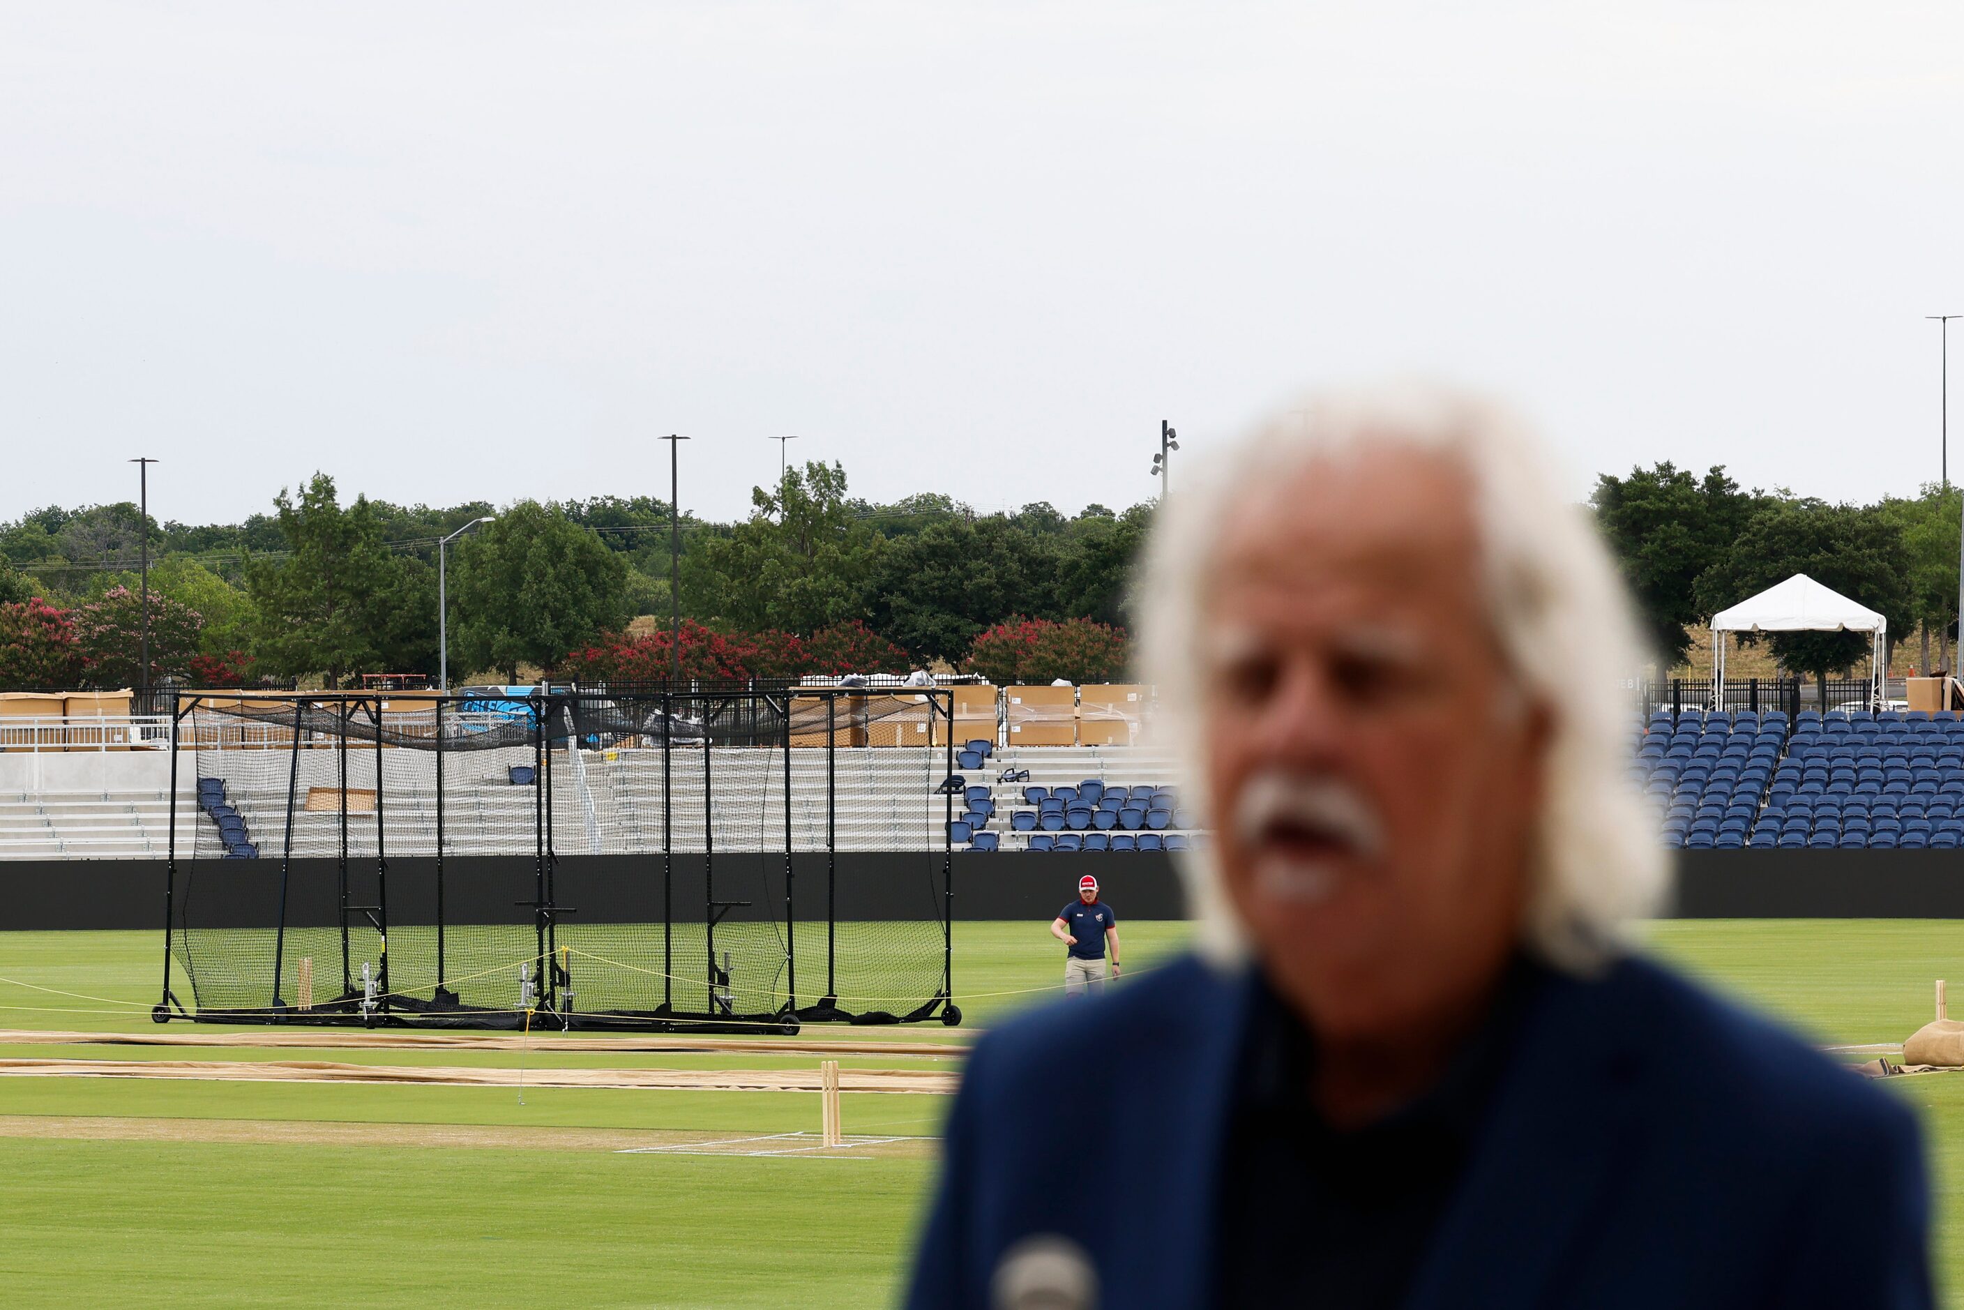
[{"label": "blurred man with white hair, moustache and navy blazer", "polygon": [[1479,397],[1320,397],[1202,469],[1141,634],[1198,955],[976,1047],[909,1304],[1931,1304],[1911,1116],[1624,945],[1630,632]]}]

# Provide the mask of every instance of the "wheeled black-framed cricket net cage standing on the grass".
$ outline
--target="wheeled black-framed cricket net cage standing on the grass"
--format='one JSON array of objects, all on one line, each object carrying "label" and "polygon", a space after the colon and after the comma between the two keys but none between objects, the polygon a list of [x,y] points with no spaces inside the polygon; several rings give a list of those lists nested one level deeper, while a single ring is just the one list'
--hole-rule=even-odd
[{"label": "wheeled black-framed cricket net cage standing on the grass", "polygon": [[[953,727],[931,687],[183,693],[155,1017],[958,1023]],[[866,852],[913,917],[839,915]]]}]

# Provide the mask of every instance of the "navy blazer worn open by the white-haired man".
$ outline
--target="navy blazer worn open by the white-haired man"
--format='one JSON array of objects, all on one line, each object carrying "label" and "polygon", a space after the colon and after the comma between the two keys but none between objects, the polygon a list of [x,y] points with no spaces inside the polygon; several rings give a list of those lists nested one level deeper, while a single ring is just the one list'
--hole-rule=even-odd
[{"label": "navy blazer worn open by the white-haired man", "polygon": [[[1251,996],[1249,974],[1188,956],[984,1037],[907,1304],[982,1310],[1033,1233],[1084,1247],[1106,1310],[1210,1304]],[[1090,1186],[1066,1182],[1061,1145],[1086,1123],[1108,1147]],[[1921,1308],[1927,1224],[1903,1104],[1624,958],[1530,1002],[1404,1304]]]}]

